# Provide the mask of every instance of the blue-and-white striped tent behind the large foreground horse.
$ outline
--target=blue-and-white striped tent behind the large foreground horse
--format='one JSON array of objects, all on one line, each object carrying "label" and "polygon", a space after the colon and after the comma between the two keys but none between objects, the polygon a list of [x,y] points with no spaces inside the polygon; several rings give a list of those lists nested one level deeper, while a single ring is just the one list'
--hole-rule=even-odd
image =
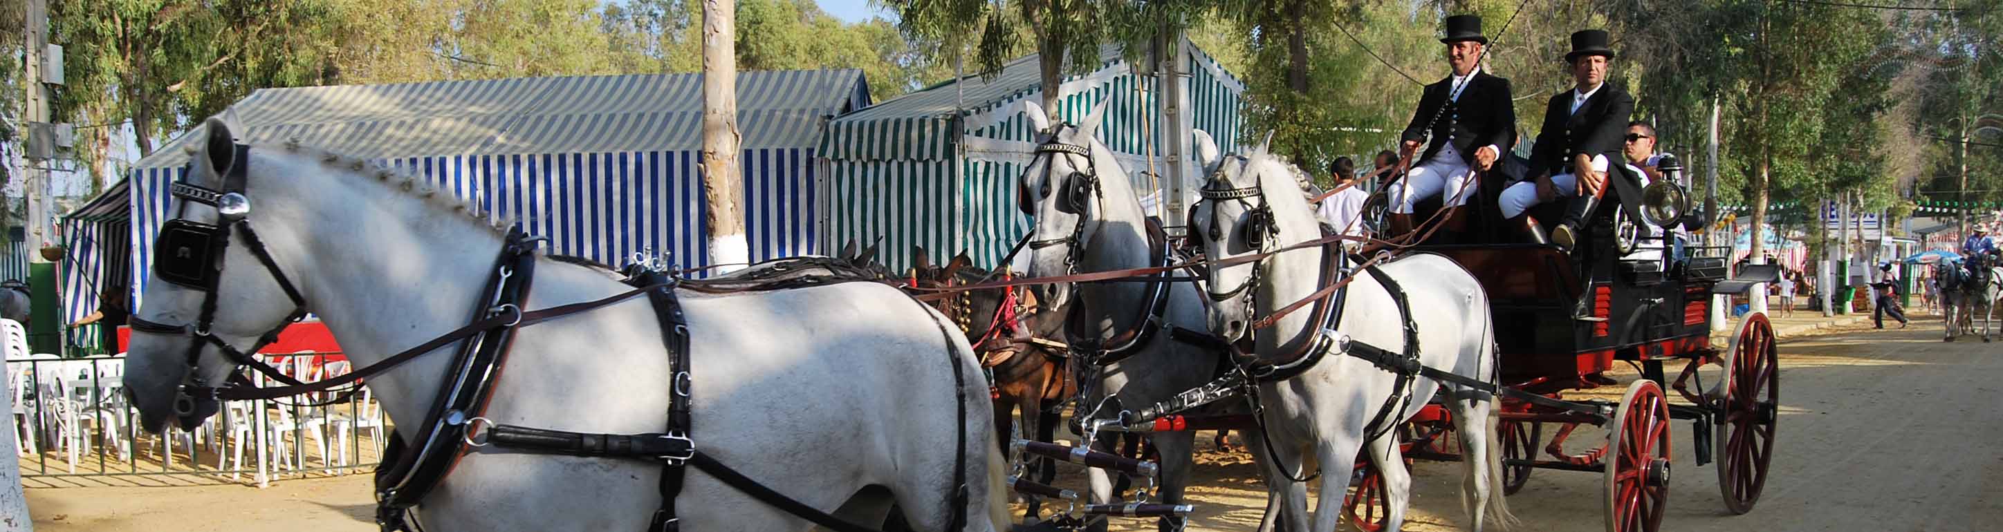
[{"label": "blue-and-white striped tent behind the large foreground horse", "polygon": [[[695,268],[709,266],[701,82],[643,74],[264,88],[222,116],[238,142],[296,138],[427,176],[547,236],[553,254],[617,266],[637,252],[669,252]],[[737,74],[751,260],[819,250],[815,142],[827,118],[863,106],[861,70]],[[174,138],[66,218],[66,320],[96,310],[106,288],[138,308],[152,236],[172,216],[166,190],[188,158],[182,144],[200,138],[202,128]]]}]

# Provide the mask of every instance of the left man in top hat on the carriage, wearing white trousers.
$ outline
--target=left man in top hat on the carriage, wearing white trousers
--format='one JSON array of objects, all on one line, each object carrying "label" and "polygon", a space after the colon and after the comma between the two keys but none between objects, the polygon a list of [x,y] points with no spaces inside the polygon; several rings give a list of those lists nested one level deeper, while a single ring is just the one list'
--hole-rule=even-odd
[{"label": "left man in top hat on the carriage, wearing white trousers", "polygon": [[[1462,206],[1474,198],[1474,170],[1488,170],[1502,150],[1516,144],[1516,110],[1510,106],[1506,78],[1482,72],[1480,58],[1488,48],[1482,18],[1456,14],[1446,18],[1446,64],[1452,76],[1428,84],[1418,98],[1418,112],[1404,128],[1404,158],[1418,160],[1404,180],[1390,184],[1390,232],[1412,230],[1412,204],[1442,196],[1442,206]],[[1428,140],[1430,136],[1430,140]],[[1412,158],[1424,140],[1426,152]],[[1466,230],[1466,210],[1446,218],[1448,238]]]}]

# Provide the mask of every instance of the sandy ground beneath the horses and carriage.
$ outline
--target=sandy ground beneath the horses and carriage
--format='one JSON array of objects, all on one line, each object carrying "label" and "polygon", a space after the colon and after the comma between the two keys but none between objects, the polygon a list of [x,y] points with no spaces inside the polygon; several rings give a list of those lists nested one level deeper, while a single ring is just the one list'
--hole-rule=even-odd
[{"label": "sandy ground beneath the horses and carriage", "polygon": [[[1747,516],[1725,512],[1717,470],[1695,466],[1689,422],[1679,422],[1664,530],[2003,530],[2003,452],[1991,446],[2003,440],[2003,424],[1995,424],[1999,354],[2003,344],[1943,344],[1937,322],[1783,342],[1777,456],[1759,508]],[[1586,444],[1602,436],[1582,428],[1572,438]],[[1198,460],[1192,530],[1252,530],[1264,492],[1250,456],[1206,446]],[[1076,474],[1066,478],[1080,486]],[[1460,530],[1466,518],[1452,492],[1458,480],[1458,464],[1418,464],[1404,530]],[[375,530],[365,474],[284,480],[264,490],[138,482],[150,480],[30,488],[34,526]],[[1508,504],[1526,524],[1518,530],[1604,530],[1600,474],[1538,470]],[[1154,526],[1126,520],[1114,530]]]}]

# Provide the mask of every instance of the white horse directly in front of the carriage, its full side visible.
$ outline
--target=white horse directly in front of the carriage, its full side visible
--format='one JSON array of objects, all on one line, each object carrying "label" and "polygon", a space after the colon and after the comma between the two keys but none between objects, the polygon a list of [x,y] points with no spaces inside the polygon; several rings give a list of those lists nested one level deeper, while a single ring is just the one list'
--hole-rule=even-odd
[{"label": "white horse directly in front of the carriage, its full side visible", "polygon": [[[1206,258],[1228,260],[1322,238],[1314,210],[1278,156],[1258,148],[1250,156],[1220,160],[1216,144],[1204,132],[1196,134],[1196,144],[1198,162],[1210,178],[1190,232],[1202,240]],[[1328,256],[1322,248],[1300,248],[1212,268],[1210,328],[1232,340],[1252,334],[1252,320],[1316,294],[1322,282],[1334,282],[1322,276],[1324,258]],[[1420,364],[1482,382],[1496,380],[1488,298],[1472,274],[1436,254],[1404,256],[1378,268],[1402,286],[1410,314],[1416,316],[1400,312],[1392,292],[1374,274],[1354,270],[1356,278],[1348,284],[1342,308],[1330,310],[1340,312],[1334,316],[1338,330],[1330,334],[1398,354],[1406,348],[1406,320],[1410,320],[1416,324]],[[1310,322],[1312,318],[1310,312],[1286,314],[1270,330],[1254,334],[1258,356],[1272,364],[1292,362],[1288,354],[1306,352],[1304,346],[1322,334],[1322,324]],[[1260,400],[1266,404],[1262,420],[1270,430],[1266,438],[1274,444],[1266,476],[1274,480],[1276,492],[1284,492],[1288,530],[1336,530],[1358,448],[1366,444],[1366,424],[1386,408],[1396,380],[1394,372],[1380,370],[1372,362],[1330,352],[1296,378],[1260,384]],[[1404,422],[1418,414],[1438,388],[1440,384],[1430,378],[1416,378],[1406,390],[1410,402],[1398,402],[1404,406],[1402,412],[1382,422]],[[1470,458],[1462,460],[1468,468],[1460,486],[1470,530],[1482,530],[1484,518],[1496,526],[1510,526],[1514,516],[1502,500],[1494,398],[1448,384],[1446,404],[1460,448]],[[1386,530],[1398,530],[1408,504],[1410,474],[1400,458],[1396,430],[1378,430],[1382,436],[1368,442],[1370,460],[1382,470],[1390,502]],[[1302,476],[1290,470],[1302,468],[1306,456],[1322,468],[1312,528],[1306,486],[1294,482]]]}]

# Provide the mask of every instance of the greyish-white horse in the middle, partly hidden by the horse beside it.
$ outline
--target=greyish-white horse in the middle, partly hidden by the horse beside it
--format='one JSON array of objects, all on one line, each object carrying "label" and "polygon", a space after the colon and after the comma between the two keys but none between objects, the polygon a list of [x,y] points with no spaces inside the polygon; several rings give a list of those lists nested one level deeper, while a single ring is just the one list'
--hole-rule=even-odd
[{"label": "greyish-white horse in the middle, partly hidden by the horse beside it", "polygon": [[[1026,114],[1038,132],[1046,132],[1038,158],[1024,170],[1018,188],[1018,194],[1024,194],[1024,210],[1036,216],[1030,276],[1156,266],[1152,264],[1160,252],[1156,248],[1168,242],[1152,242],[1140,196],[1134,194],[1126,170],[1114,160],[1112,148],[1092,136],[1106,114],[1106,104],[1092,110],[1082,126],[1058,124],[1052,128],[1044,110],[1034,102],[1028,104]],[[1072,356],[1070,364],[1082,390],[1074,426],[1090,422],[1086,418],[1112,418],[1120,408],[1144,408],[1202,386],[1218,368],[1218,360],[1226,356],[1214,346],[1178,340],[1178,334],[1172,334],[1174,328],[1206,332],[1202,294],[1194,286],[1186,282],[1164,286],[1166,310],[1150,318],[1146,302],[1154,286],[1104,282],[1044,288],[1046,308],[1072,304],[1074,326],[1068,330],[1072,346],[1090,346],[1138,328],[1154,328],[1154,334],[1144,344],[1136,344],[1134,354],[1124,360],[1098,366]],[[1074,292],[1076,304],[1072,302]],[[1182,490],[1190,484],[1190,466],[1194,464],[1190,452],[1196,434],[1154,432],[1148,438],[1162,454],[1160,502],[1180,504]],[[1246,434],[1246,440],[1252,448],[1260,446],[1256,434]],[[1106,472],[1094,468],[1088,476],[1094,502],[1108,502],[1112,482]],[[1268,530],[1276,506],[1276,500],[1268,500],[1262,530]],[[1162,520],[1160,528],[1176,530],[1168,520]]]}]

